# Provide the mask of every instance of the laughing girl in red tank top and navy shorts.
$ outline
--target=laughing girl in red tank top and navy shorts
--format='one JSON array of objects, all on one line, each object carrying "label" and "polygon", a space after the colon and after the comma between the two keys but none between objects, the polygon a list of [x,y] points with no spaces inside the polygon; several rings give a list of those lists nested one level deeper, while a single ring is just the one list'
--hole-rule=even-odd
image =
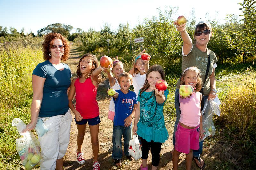
[{"label": "laughing girl in red tank top and navy shorts", "polygon": [[[112,66],[112,65],[111,65]],[[109,68],[111,67],[109,66]],[[102,70],[109,68],[99,67],[98,60],[95,55],[85,54],[79,61],[77,66],[77,78],[72,80],[70,90],[68,92],[69,108],[75,115],[77,125],[77,162],[84,164],[85,159],[82,153],[82,144],[85,135],[85,128],[88,122],[90,127],[92,150],[93,150],[93,169],[99,170],[99,107],[96,100],[98,83],[101,80],[100,73]],[[76,108],[72,99],[76,94]]]}]

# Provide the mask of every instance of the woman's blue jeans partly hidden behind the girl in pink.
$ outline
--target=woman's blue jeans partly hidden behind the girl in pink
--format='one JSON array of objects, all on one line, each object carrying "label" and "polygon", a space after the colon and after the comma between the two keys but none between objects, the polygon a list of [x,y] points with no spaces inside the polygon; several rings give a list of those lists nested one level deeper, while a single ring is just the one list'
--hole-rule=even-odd
[{"label": "woman's blue jeans partly hidden behind the girl in pink", "polygon": [[[175,96],[174,96],[174,103],[175,103],[175,109],[176,109],[176,121],[174,125],[173,136],[172,136],[173,146],[175,146],[175,132],[177,131],[177,126],[180,120],[180,113],[181,113],[179,95],[180,95],[179,89],[176,89]],[[208,99],[208,96],[203,96],[204,103],[206,102],[207,99]],[[202,151],[203,151],[203,141],[199,142],[198,150],[193,150],[193,156],[199,157],[200,154],[202,154]]]}]

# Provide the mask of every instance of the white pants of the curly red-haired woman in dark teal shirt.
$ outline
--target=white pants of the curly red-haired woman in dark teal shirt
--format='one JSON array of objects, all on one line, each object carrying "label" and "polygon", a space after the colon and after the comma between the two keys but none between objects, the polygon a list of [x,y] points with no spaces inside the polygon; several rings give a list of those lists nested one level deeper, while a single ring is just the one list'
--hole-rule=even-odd
[{"label": "white pants of the curly red-haired woman in dark teal shirt", "polygon": [[54,170],[56,160],[64,157],[70,136],[72,116],[70,109],[65,115],[41,117],[49,129],[42,137],[38,136],[41,146],[41,170]]}]

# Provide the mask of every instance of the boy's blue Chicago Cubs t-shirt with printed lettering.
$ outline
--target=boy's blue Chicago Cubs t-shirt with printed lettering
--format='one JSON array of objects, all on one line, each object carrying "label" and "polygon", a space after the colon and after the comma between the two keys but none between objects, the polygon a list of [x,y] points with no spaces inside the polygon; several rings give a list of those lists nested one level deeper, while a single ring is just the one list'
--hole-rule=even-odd
[{"label": "boy's blue Chicago Cubs t-shirt with printed lettering", "polygon": [[114,126],[124,126],[124,119],[131,115],[134,104],[137,104],[137,95],[131,90],[124,94],[121,90],[116,90],[119,93],[115,103]]}]

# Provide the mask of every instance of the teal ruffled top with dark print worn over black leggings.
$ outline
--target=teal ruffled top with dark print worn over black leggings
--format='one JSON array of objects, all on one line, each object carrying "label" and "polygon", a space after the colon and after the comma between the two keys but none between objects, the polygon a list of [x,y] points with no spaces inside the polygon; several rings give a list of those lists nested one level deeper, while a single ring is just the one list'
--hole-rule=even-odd
[{"label": "teal ruffled top with dark print worn over black leggings", "polygon": [[[165,90],[165,101],[168,94],[169,91]],[[137,134],[147,142],[152,140],[164,143],[169,137],[164,124],[164,103],[159,104],[156,102],[154,91],[142,92],[141,96],[138,96],[138,102],[140,102],[140,120],[137,124]]]}]

